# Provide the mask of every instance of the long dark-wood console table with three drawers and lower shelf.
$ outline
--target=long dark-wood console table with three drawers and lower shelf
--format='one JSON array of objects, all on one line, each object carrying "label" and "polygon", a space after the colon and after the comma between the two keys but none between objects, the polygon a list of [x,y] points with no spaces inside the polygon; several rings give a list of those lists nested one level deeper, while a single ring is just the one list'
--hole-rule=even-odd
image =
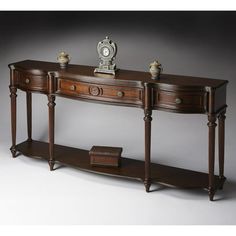
[{"label": "long dark-wood console table with three drawers and lower shelf", "polygon": [[[78,169],[132,178],[143,181],[149,192],[153,182],[184,188],[204,188],[212,201],[222,189],[224,177],[224,126],[226,113],[226,80],[161,74],[159,80],[149,73],[118,70],[116,75],[95,74],[94,67],[26,60],[9,65],[12,156],[23,154],[48,161],[50,170],[55,162]],[[17,89],[26,92],[28,139],[16,144]],[[32,139],[32,93],[48,97],[49,142]],[[119,168],[91,166],[86,150],[54,144],[54,108],[57,96],[111,105],[138,107],[144,110],[144,161],[122,158]],[[208,117],[208,173],[159,165],[151,162],[152,111],[200,113]],[[215,128],[218,120],[219,175],[214,174]]]}]

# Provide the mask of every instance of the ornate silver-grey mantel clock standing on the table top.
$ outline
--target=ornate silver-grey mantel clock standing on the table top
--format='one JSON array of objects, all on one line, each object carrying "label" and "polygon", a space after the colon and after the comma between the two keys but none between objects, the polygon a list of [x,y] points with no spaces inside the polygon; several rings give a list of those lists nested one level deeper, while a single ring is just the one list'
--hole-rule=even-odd
[{"label": "ornate silver-grey mantel clock standing on the table top", "polygon": [[105,73],[115,75],[116,64],[113,62],[117,53],[116,44],[106,36],[97,45],[99,59],[99,67],[94,70],[95,73]]}]

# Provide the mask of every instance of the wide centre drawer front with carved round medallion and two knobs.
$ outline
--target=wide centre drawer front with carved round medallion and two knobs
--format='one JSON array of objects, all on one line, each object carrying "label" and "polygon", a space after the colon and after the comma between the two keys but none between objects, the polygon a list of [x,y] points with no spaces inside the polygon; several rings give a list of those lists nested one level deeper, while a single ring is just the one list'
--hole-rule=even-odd
[{"label": "wide centre drawer front with carved round medallion and two knobs", "polygon": [[142,89],[58,79],[57,93],[99,101],[142,105]]}]

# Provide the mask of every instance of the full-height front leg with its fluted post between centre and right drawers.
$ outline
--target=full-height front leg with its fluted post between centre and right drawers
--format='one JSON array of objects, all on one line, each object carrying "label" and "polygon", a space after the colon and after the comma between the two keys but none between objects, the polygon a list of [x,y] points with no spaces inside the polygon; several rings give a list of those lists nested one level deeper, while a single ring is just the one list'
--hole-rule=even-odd
[{"label": "full-height front leg with its fluted post between centre and right drawers", "polygon": [[151,109],[151,87],[149,84],[145,84],[145,107],[144,107],[144,123],[145,123],[145,176],[144,185],[146,192],[149,192],[151,186],[151,121],[152,121],[152,109]]}]

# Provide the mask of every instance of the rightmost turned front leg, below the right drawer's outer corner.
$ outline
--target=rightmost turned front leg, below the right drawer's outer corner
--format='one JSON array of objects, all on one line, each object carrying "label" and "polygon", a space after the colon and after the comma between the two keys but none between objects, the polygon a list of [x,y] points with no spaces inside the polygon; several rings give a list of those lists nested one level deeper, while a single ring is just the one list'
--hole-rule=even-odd
[{"label": "rightmost turned front leg, below the right drawer's outer corner", "polygon": [[213,201],[215,194],[215,183],[214,183],[214,167],[215,167],[215,127],[216,127],[216,116],[208,115],[208,127],[209,127],[209,140],[208,140],[208,162],[209,162],[209,185],[208,192],[209,198]]}]

